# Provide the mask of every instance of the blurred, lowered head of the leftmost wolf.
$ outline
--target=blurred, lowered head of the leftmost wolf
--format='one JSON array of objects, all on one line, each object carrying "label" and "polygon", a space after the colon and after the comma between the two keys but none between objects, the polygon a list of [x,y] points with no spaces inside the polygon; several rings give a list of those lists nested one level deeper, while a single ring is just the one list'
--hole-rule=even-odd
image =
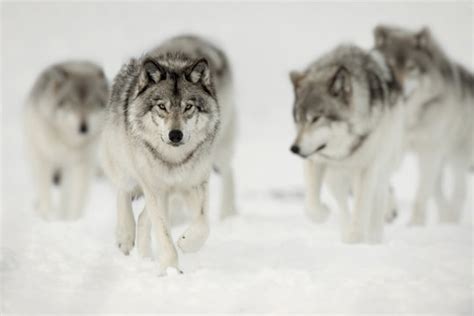
[{"label": "blurred, lowered head of the leftmost wolf", "polygon": [[108,97],[108,83],[101,68],[88,62],[68,62],[53,66],[46,77],[48,93],[43,96],[47,102],[41,111],[61,137],[71,145],[96,137]]}]

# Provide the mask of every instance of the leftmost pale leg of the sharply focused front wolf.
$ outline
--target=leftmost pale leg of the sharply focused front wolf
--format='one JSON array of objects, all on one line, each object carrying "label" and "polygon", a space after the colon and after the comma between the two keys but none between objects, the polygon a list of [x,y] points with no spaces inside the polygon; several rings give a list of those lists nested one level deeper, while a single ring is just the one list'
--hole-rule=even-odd
[{"label": "leftmost pale leg of the sharply focused front wolf", "polygon": [[117,194],[117,246],[128,256],[135,244],[135,218],[133,217],[132,198],[129,192]]}]

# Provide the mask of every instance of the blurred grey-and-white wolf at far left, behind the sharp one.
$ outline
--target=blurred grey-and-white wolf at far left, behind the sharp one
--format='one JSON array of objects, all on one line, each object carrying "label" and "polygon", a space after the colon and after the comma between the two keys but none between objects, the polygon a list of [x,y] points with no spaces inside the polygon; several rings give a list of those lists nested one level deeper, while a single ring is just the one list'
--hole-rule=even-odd
[{"label": "blurred grey-and-white wolf at far left, behind the sharp one", "polygon": [[[44,219],[81,216],[109,93],[104,71],[90,61],[66,61],[46,68],[28,95],[25,140]],[[60,185],[59,209],[52,185]]]}]

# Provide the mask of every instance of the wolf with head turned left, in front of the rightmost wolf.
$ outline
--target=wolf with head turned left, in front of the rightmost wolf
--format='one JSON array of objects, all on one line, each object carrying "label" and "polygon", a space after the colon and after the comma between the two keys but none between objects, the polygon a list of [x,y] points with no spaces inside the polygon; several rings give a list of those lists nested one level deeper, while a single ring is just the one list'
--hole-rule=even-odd
[{"label": "wolf with head turned left, in front of the rightmost wolf", "polygon": [[304,158],[307,215],[325,219],[324,181],[341,211],[342,240],[381,242],[389,178],[403,144],[400,91],[388,67],[380,56],[341,45],[290,79],[297,131],[291,151]]}]

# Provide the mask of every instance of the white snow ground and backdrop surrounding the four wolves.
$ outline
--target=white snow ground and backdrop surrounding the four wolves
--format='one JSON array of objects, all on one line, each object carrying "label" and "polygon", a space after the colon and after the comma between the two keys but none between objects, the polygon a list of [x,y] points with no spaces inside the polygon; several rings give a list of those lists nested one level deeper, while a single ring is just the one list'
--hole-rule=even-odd
[{"label": "white snow ground and backdrop surrounding the four wolves", "polygon": [[[379,22],[432,26],[450,55],[472,69],[472,4],[76,3],[2,9],[1,312],[472,314],[472,193],[462,224],[438,225],[431,210],[428,227],[407,227],[417,181],[408,156],[393,180],[401,214],[387,227],[384,243],[342,244],[336,212],[323,225],[304,217],[301,161],[288,150],[293,129],[287,79],[289,69],[341,41],[370,47],[371,28]],[[91,58],[112,77],[126,58],[183,31],[211,36],[233,61],[240,215],[217,221],[219,179],[213,177],[208,242],[197,254],[181,254],[183,275],[159,278],[155,263],[135,250],[125,257],[115,247],[114,194],[105,180],[94,184],[81,220],[46,223],[36,217],[20,110],[36,74],[51,62]],[[184,228],[175,227],[175,237]]]}]

